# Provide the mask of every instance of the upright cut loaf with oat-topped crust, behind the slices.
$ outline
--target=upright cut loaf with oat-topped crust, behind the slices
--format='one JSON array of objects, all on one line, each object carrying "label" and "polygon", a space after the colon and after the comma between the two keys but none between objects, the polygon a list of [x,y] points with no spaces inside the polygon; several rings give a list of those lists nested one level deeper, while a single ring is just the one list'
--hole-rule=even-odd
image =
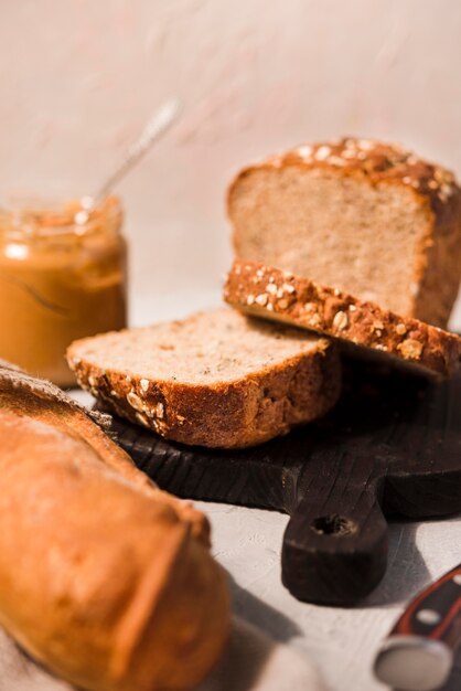
[{"label": "upright cut loaf with oat-topped crust, behind the slices", "polygon": [[300,146],[243,170],[228,192],[240,258],[446,328],[461,275],[461,190],[395,145]]}]

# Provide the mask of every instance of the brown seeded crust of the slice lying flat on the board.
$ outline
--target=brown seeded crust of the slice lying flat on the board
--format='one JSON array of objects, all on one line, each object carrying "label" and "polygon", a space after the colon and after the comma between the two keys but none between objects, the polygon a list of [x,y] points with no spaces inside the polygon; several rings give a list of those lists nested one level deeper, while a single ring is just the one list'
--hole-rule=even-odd
[{"label": "brown seeded crust of the slice lying flat on the board", "polygon": [[85,359],[88,344],[92,339],[82,339],[67,351],[78,383],[109,411],[187,445],[261,444],[321,417],[341,391],[337,349],[328,339],[251,375],[213,384],[151,381],[139,373],[103,369]]}]

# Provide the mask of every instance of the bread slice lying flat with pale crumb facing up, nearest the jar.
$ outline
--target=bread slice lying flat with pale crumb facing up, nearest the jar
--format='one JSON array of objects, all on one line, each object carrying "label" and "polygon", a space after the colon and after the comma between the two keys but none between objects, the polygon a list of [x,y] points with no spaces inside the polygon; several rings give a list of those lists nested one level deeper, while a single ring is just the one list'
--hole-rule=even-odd
[{"label": "bread slice lying flat with pale crumb facing up, nearest the jar", "polygon": [[183,444],[245,447],[326,413],[337,350],[227,308],[75,341],[79,384],[118,415]]}]

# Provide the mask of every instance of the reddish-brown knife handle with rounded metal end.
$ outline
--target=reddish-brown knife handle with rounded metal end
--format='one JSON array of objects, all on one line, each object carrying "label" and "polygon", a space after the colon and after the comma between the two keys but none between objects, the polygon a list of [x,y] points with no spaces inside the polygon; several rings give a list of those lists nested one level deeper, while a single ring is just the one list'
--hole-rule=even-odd
[{"label": "reddish-brown knife handle with rounded metal end", "polygon": [[461,642],[461,564],[411,600],[375,661],[380,681],[405,691],[431,691],[448,679]]}]

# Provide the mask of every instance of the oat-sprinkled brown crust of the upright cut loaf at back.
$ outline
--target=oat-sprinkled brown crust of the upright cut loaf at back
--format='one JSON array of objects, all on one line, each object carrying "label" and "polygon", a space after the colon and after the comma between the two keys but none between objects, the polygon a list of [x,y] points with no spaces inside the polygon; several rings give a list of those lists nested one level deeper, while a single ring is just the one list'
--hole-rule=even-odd
[{"label": "oat-sprinkled brown crust of the upright cut loaf at back", "polygon": [[[461,273],[461,189],[449,170],[430,163],[395,145],[344,137],[300,145],[244,168],[230,183],[227,214],[233,221],[233,199],[242,180],[257,170],[288,167],[325,170],[339,177],[365,180],[371,185],[407,188],[427,219],[412,262],[412,308],[406,316],[446,328],[458,295]],[[233,243],[242,258],[239,235],[234,227]]]}]

